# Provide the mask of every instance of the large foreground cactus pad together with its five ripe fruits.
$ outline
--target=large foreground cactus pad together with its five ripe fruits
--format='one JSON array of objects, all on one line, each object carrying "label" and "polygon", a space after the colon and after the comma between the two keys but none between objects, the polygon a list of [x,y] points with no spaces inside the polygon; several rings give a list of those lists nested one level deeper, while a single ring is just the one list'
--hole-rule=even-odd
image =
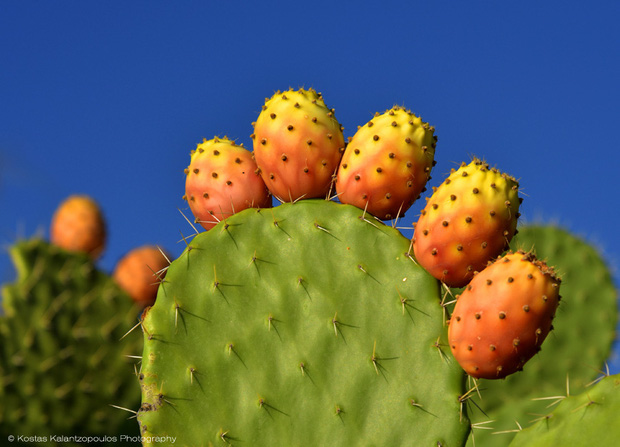
[{"label": "large foreground cactus pad together with its five ripe fruits", "polygon": [[253,126],[253,152],[227,137],[192,151],[184,199],[209,231],[186,241],[143,314],[141,433],[464,445],[478,380],[521,374],[561,299],[544,258],[509,250],[518,182],[463,163],[409,240],[381,221],[426,190],[428,123],[393,107],[345,143],[320,93],[290,89]]}]

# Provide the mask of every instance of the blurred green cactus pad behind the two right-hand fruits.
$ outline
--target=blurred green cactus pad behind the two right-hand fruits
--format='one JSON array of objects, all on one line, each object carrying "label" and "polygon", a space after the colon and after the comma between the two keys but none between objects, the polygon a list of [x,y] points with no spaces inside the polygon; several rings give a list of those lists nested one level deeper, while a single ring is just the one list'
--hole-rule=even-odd
[{"label": "blurred green cactus pad behind the two right-hand fruits", "polygon": [[583,389],[604,370],[615,338],[617,291],[593,246],[566,230],[541,225],[520,227],[511,246],[533,250],[556,267],[562,301],[555,329],[522,372],[480,381],[480,407],[486,414],[476,412],[472,418],[493,422],[484,425],[491,430],[474,430],[477,447],[508,445],[517,423],[527,427],[536,415],[545,414],[553,400],[541,398],[566,394],[567,381],[569,389]]}]

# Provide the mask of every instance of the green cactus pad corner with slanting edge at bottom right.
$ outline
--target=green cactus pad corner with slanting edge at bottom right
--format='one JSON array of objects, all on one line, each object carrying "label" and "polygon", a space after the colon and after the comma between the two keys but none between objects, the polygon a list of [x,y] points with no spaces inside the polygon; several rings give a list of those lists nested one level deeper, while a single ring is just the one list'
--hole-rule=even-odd
[{"label": "green cactus pad corner with slanting edge at bottom right", "polygon": [[609,376],[520,431],[510,447],[612,446],[620,439],[620,375]]}]

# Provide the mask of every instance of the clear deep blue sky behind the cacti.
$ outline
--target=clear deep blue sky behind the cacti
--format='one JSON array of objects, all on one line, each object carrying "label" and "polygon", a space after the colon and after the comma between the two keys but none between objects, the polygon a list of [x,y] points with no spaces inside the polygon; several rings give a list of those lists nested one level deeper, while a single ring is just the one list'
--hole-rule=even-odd
[{"label": "clear deep blue sky behind the cacti", "polygon": [[0,243],[47,234],[86,193],[108,220],[102,268],[147,243],[178,255],[189,152],[214,135],[251,147],[264,98],[305,86],[346,136],[412,109],[439,136],[432,184],[484,157],[520,179],[524,221],[617,266],[619,19],[616,1],[3,1]]}]

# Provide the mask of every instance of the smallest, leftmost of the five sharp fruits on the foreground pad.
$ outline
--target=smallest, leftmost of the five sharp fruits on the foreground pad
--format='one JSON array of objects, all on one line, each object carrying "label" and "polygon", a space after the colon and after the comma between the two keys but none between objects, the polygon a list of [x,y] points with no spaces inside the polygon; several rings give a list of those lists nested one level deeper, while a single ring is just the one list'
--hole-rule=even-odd
[{"label": "smallest, leftmost of the five sharp fruits on the foreground pad", "polygon": [[205,230],[246,208],[268,208],[271,197],[252,154],[228,138],[203,139],[185,170],[185,196]]}]

